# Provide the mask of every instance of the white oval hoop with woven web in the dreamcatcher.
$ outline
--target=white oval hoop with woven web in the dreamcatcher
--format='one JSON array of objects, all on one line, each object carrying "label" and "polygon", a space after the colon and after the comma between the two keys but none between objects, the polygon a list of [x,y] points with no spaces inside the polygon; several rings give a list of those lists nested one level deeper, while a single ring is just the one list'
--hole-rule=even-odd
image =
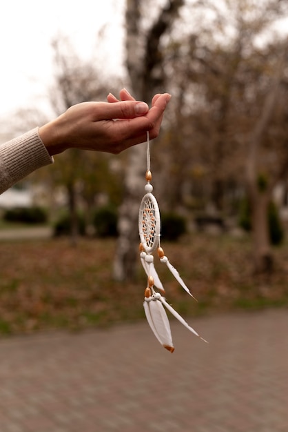
[{"label": "white oval hoop with woven web in the dreamcatcher", "polygon": [[144,195],[141,201],[138,226],[145,252],[152,253],[159,245],[161,222],[158,203],[150,192]]}]

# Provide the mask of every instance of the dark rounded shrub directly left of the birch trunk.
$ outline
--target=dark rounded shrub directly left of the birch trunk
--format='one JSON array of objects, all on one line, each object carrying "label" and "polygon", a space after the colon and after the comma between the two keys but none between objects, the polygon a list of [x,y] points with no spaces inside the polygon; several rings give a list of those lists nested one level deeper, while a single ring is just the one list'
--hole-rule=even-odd
[{"label": "dark rounded shrub directly left of the birch trunk", "polygon": [[94,228],[98,237],[116,237],[118,235],[118,215],[114,206],[98,208],[94,213]]}]

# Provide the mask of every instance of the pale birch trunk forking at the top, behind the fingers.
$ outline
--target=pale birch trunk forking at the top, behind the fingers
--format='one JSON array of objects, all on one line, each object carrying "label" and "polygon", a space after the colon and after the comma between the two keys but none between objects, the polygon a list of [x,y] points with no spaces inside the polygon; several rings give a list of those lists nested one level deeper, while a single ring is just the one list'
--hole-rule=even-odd
[{"label": "pale birch trunk forking at the top, behind the fingers", "polygon": [[[167,1],[147,34],[141,30],[141,2],[126,1],[126,64],[136,99],[149,103],[154,92],[164,90],[163,53],[160,39],[171,28],[183,0]],[[120,209],[119,239],[114,259],[114,278],[133,279],[136,271],[138,208],[144,195],[145,146],[130,148],[125,173],[125,198]]]}]

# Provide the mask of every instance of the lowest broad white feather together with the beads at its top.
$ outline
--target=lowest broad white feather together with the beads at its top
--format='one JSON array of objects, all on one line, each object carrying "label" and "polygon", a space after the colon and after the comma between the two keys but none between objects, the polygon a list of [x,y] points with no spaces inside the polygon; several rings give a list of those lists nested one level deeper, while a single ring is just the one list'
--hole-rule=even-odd
[{"label": "lowest broad white feather together with the beads at its top", "polygon": [[174,346],[172,342],[169,320],[163,305],[159,301],[160,297],[160,293],[153,293],[151,295],[151,289],[146,288],[145,301],[143,304],[144,311],[147,322],[150,325],[150,328],[152,329],[158,342],[160,342],[168,351],[173,353]]}]

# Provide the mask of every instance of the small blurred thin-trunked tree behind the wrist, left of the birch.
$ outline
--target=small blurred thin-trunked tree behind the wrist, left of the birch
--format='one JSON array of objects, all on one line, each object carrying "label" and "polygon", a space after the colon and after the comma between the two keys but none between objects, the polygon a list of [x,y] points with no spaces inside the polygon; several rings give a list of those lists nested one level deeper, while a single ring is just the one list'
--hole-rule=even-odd
[{"label": "small blurred thin-trunked tree behind the wrist, left of the birch", "polygon": [[[119,81],[117,77],[104,78],[101,69],[94,66],[92,61],[81,61],[73,52],[69,41],[56,39],[52,46],[55,82],[50,95],[56,115],[83,101],[105,99],[107,81],[111,79],[115,85]],[[55,159],[59,160],[59,164],[54,165],[52,175],[56,184],[65,187],[71,218],[71,239],[72,244],[76,244],[79,195],[82,199],[83,197],[86,199],[89,208],[96,193],[104,193],[107,190],[106,186],[110,184],[109,155],[70,149],[61,155],[56,155]],[[103,177],[106,177],[106,183]]]}]

